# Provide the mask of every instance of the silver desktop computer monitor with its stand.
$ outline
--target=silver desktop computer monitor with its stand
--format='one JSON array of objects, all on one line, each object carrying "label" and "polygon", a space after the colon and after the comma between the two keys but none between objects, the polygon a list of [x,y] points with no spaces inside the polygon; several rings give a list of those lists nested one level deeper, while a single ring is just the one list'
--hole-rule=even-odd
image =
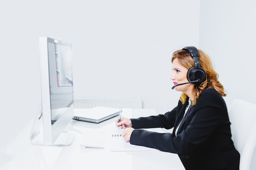
[{"label": "silver desktop computer monitor with its stand", "polygon": [[74,134],[64,132],[74,116],[71,44],[39,38],[41,105],[31,132],[36,145],[68,146]]}]

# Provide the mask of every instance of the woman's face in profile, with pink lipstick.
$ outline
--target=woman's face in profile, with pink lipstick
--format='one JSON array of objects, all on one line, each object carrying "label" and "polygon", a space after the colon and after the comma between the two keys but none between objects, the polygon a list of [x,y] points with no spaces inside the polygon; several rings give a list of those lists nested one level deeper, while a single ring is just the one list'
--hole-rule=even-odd
[{"label": "woman's face in profile, with pink lipstick", "polygon": [[[189,82],[186,77],[187,72],[188,72],[188,69],[182,66],[179,63],[178,59],[175,58],[173,60],[173,67],[172,67],[172,74],[171,74],[171,80],[173,80],[174,86],[177,84]],[[182,91],[183,93],[189,96],[191,89],[193,89],[193,87],[194,87],[194,84],[184,84],[184,85],[176,86],[175,90]]]}]

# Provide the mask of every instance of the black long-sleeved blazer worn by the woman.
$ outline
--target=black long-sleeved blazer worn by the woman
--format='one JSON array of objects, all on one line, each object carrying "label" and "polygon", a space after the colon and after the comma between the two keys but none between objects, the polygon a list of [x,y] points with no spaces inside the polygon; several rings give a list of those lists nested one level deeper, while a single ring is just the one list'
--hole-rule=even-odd
[{"label": "black long-sleeved blazer worn by the woman", "polygon": [[[227,107],[222,96],[213,88],[206,89],[197,104],[182,119],[188,100],[180,101],[164,115],[131,119],[133,130],[130,144],[177,153],[186,170],[238,170],[240,154],[231,140]],[[149,132],[139,128],[173,128],[171,133]]]}]

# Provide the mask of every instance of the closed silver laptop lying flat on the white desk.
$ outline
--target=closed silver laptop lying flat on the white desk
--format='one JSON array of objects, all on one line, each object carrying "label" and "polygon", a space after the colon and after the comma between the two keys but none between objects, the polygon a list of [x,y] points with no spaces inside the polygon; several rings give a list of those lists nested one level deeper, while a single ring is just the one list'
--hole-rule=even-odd
[{"label": "closed silver laptop lying flat on the white desk", "polygon": [[75,120],[100,123],[119,115],[119,108],[97,106],[94,108],[74,108]]}]

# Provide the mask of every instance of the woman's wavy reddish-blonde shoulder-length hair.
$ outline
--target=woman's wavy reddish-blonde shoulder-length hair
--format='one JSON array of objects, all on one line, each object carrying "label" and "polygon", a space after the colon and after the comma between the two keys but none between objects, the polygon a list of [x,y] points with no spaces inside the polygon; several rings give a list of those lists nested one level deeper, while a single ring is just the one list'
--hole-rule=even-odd
[{"label": "woman's wavy reddish-blonde shoulder-length hair", "polygon": [[[199,53],[199,62],[200,66],[204,69],[206,72],[206,80],[202,82],[197,88],[194,89],[195,91],[195,96],[192,102],[192,106],[195,106],[198,98],[200,97],[200,94],[207,88],[214,88],[218,93],[220,93],[221,96],[226,96],[227,94],[224,91],[224,87],[222,84],[218,81],[218,73],[214,71],[213,66],[211,64],[210,57],[204,53],[202,50],[198,49]],[[173,53],[173,57],[171,58],[171,62],[177,58],[179,63],[184,66],[185,68],[189,69],[194,65],[194,60],[191,57],[190,53],[185,50],[177,50]],[[182,104],[186,102],[187,95],[185,93],[182,93],[180,96],[180,101]]]}]

